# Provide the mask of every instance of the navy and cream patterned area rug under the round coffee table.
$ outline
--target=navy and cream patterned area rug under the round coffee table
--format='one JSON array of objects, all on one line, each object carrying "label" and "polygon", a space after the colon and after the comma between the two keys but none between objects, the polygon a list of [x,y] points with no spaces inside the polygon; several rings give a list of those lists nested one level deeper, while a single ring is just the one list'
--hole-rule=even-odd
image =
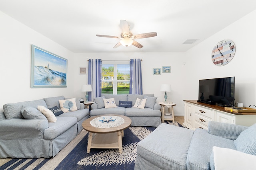
[{"label": "navy and cream patterned area rug under the round coffee table", "polygon": [[[178,122],[165,123],[183,127]],[[118,149],[91,149],[87,153],[87,131],[82,130],[54,158],[0,159],[1,170],[130,170],[134,169],[137,143],[155,127],[129,127],[124,130],[123,153]],[[6,163],[4,162],[6,160]]]}]

